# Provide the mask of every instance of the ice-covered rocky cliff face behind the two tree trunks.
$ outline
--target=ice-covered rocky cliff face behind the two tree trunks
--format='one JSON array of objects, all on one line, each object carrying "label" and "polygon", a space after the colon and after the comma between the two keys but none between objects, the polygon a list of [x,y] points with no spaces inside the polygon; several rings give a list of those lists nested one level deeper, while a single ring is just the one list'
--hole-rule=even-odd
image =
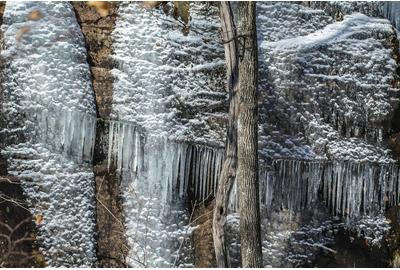
[{"label": "ice-covered rocky cliff face behind the two tree trunks", "polygon": [[[326,265],[335,251],[348,263],[338,241],[351,238],[382,265],[386,246],[396,253],[384,212],[400,199],[399,46],[396,9],[382,10],[258,3],[265,266]],[[7,4],[0,170],[22,189],[5,189],[43,218],[48,266],[214,266],[227,119],[218,7],[192,3],[189,28],[169,4],[108,11]],[[227,229],[240,266],[235,192]]]}]

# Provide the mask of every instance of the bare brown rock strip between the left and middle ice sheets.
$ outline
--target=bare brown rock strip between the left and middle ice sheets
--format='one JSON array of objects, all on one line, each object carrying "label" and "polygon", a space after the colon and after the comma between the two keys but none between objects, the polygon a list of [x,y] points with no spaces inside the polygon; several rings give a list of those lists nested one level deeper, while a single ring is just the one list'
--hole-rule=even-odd
[{"label": "bare brown rock strip between the left and middle ice sheets", "polygon": [[97,259],[99,267],[125,267],[128,252],[119,178],[107,168],[108,124],[113,100],[113,68],[111,34],[115,27],[118,2],[109,3],[109,15],[101,17],[85,2],[72,2],[86,40],[88,62],[97,104],[94,173],[97,199]]}]

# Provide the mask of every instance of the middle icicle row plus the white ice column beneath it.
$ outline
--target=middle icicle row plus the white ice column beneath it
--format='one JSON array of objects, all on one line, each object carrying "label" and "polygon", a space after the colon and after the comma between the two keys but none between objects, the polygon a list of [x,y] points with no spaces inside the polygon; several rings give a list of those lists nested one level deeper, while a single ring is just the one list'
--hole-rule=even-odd
[{"label": "middle icicle row plus the white ice column beneath it", "polygon": [[109,122],[108,140],[109,169],[122,179],[129,265],[190,266],[186,199],[214,194],[223,151],[148,136],[117,121]]}]

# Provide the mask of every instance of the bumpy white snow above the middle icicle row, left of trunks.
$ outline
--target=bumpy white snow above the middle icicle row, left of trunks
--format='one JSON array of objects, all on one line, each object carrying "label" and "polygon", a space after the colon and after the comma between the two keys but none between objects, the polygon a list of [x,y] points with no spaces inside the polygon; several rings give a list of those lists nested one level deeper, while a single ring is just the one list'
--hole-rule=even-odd
[{"label": "bumpy white snow above the middle icicle row, left of trunks", "polygon": [[149,135],[221,146],[219,112],[227,96],[218,8],[192,4],[190,12],[185,36],[182,25],[163,11],[121,4],[112,34],[117,62],[112,118]]}]

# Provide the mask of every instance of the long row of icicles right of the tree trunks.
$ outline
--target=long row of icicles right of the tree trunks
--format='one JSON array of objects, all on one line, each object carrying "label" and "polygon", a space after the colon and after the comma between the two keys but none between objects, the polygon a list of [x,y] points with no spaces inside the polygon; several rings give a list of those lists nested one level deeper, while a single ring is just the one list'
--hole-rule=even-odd
[{"label": "long row of icicles right of the tree trunks", "polygon": [[318,200],[334,216],[377,215],[400,201],[399,167],[350,161],[276,160],[261,172],[261,202],[296,212]]}]

